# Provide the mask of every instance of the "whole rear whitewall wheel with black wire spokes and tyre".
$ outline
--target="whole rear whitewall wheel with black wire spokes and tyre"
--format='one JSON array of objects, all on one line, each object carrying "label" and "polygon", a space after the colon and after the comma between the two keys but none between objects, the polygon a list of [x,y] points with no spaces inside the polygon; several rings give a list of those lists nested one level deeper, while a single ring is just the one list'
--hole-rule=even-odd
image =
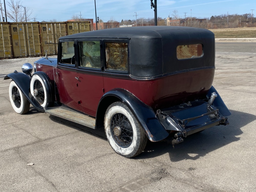
[{"label": "whole rear whitewall wheel with black wire spokes and tyre", "polygon": [[124,103],[115,102],[108,107],[104,127],[110,146],[124,157],[139,155],[147,144],[144,129]]}]

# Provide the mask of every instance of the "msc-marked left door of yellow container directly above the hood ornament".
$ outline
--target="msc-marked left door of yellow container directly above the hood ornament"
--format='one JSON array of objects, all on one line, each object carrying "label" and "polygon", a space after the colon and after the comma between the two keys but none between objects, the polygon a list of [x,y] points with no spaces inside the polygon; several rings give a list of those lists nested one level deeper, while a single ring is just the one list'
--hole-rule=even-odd
[{"label": "msc-marked left door of yellow container directly above the hood ornament", "polygon": [[54,25],[53,23],[40,23],[40,32],[42,40],[42,52],[45,55],[55,55]]}]

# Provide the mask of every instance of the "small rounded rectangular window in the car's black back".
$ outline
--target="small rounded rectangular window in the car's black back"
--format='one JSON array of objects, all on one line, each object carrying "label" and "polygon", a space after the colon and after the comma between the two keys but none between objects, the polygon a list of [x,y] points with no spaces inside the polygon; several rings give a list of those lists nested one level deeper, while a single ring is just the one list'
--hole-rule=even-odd
[{"label": "small rounded rectangular window in the car's black back", "polygon": [[179,45],[176,51],[177,59],[190,59],[203,56],[202,44]]}]

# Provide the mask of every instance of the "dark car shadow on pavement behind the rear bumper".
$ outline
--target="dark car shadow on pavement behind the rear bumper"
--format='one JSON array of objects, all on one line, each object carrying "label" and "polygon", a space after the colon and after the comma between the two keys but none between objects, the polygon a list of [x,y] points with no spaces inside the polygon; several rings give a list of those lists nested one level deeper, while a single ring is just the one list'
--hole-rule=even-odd
[{"label": "dark car shadow on pavement behind the rear bumper", "polygon": [[135,159],[153,158],[169,153],[172,162],[185,159],[196,160],[225,145],[239,141],[239,135],[243,131],[249,131],[244,126],[256,120],[256,116],[240,111],[230,111],[232,115],[228,117],[229,125],[214,126],[203,132],[189,135],[184,138],[184,142],[175,145],[174,148],[167,142],[148,142],[144,152]]}]

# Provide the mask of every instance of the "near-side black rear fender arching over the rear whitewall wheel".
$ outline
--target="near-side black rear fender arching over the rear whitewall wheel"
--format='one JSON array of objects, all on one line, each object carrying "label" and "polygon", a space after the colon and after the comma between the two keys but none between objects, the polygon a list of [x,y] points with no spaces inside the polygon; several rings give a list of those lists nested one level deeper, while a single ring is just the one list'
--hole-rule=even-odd
[{"label": "near-side black rear fender arching over the rear whitewall wheel", "polygon": [[[116,100],[113,99],[113,96],[116,98]],[[108,106],[112,102],[122,101],[131,110],[131,112],[133,113],[137,121],[141,124],[141,126],[145,130],[146,135],[150,141],[152,142],[161,141],[169,135],[169,133],[165,130],[165,128],[162,126],[162,124],[156,117],[156,113],[150,106],[140,101],[132,93],[120,88],[108,91],[102,96],[97,109],[96,122],[97,122],[97,118],[103,117],[104,119],[103,115],[98,115],[98,114],[100,113],[102,114],[102,111],[104,111],[104,114],[105,114],[106,108],[104,108],[103,110],[103,107],[102,107],[105,104],[102,104],[102,103],[104,103],[105,101],[108,101],[107,99],[108,97],[112,98],[110,99],[111,102],[108,103]]]}]

